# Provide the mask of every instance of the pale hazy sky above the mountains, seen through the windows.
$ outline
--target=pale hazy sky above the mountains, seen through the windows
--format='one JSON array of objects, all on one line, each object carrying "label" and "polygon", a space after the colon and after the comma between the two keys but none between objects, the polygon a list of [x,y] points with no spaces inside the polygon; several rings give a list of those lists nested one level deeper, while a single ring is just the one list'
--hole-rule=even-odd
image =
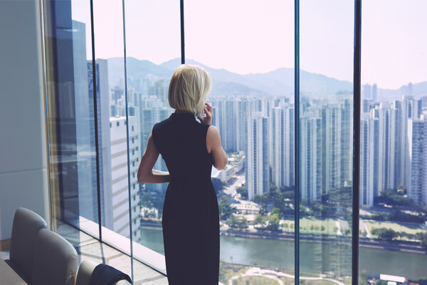
[{"label": "pale hazy sky above the mountains, seen through the windows", "polygon": [[[87,24],[88,1],[73,0]],[[236,73],[294,65],[293,0],[185,0],[186,58]],[[362,2],[362,83],[399,88],[427,81],[427,1]],[[127,56],[180,57],[179,1],[125,0]],[[95,55],[123,56],[122,1],[94,0]],[[300,1],[300,68],[352,81],[354,1]],[[88,54],[90,58],[90,54]]]}]

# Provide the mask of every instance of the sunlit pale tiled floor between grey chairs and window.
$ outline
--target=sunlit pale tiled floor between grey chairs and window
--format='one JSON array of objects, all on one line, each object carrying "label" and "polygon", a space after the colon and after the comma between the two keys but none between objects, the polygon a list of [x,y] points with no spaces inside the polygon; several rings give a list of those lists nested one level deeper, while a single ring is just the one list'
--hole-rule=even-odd
[{"label": "sunlit pale tiled floor between grey chairs and window", "polygon": [[[131,276],[131,260],[117,249],[98,242],[68,224],[58,224],[58,234],[68,240],[78,253],[79,264],[83,259],[105,263]],[[0,252],[0,258],[9,259],[9,250]],[[165,285],[166,276],[134,259],[134,284]]]}]

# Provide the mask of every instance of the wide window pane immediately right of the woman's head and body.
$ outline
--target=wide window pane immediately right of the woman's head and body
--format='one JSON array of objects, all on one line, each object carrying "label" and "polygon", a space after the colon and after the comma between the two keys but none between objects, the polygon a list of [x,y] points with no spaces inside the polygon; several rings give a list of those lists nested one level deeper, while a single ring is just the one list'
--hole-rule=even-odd
[{"label": "wide window pane immediately right of the woman's head and body", "polygon": [[186,63],[212,76],[206,101],[228,154],[226,168],[212,172],[220,281],[293,283],[293,1],[191,0],[184,8]]}]

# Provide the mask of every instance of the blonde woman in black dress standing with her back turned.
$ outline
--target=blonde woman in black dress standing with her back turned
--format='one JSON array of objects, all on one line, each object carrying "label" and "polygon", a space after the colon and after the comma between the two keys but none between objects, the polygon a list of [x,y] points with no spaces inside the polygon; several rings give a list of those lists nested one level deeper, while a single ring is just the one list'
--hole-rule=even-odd
[{"label": "blonde woman in black dress standing with her back turned", "polygon": [[[211,168],[223,169],[228,158],[218,130],[211,125],[212,106],[204,103],[211,87],[204,68],[176,69],[168,93],[175,112],[154,125],[139,164],[140,183],[169,182],[162,226],[171,285],[218,284],[219,217]],[[159,153],[169,172],[152,169]]]}]

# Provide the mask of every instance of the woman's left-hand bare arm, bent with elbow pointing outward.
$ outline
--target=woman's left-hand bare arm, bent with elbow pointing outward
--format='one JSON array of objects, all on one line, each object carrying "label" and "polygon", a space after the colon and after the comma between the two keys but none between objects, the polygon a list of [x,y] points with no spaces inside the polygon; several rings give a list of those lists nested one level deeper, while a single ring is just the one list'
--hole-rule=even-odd
[{"label": "woman's left-hand bare arm, bent with elbow pointing outward", "polygon": [[171,180],[169,172],[153,169],[157,157],[159,157],[159,150],[157,150],[156,145],[154,145],[153,137],[150,133],[144,155],[142,155],[141,162],[139,162],[139,183],[166,183]]}]

